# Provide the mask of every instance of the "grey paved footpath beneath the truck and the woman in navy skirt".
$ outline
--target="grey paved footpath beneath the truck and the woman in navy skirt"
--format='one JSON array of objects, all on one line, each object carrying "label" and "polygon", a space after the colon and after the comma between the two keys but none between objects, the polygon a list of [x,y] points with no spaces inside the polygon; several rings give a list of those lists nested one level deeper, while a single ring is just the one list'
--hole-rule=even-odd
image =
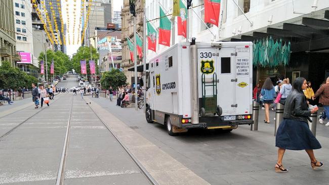
[{"label": "grey paved footpath beneath the truck and the woman in navy skirt", "polygon": [[[264,110],[259,115],[259,130],[239,126],[231,133],[213,130],[190,130],[178,136],[169,136],[166,128],[157,123],[147,123],[142,110],[120,108],[115,100],[90,98],[93,103],[115,116],[143,140],[150,142],[210,184],[329,184],[329,127],[317,124],[316,137],[322,149],[315,150],[318,160],[325,166],[312,170],[305,151],[286,151],[284,166],[288,173],[275,173],[274,112],[271,124],[262,122]],[[104,114],[106,114],[104,112]],[[192,183],[197,184],[197,183]]]}]

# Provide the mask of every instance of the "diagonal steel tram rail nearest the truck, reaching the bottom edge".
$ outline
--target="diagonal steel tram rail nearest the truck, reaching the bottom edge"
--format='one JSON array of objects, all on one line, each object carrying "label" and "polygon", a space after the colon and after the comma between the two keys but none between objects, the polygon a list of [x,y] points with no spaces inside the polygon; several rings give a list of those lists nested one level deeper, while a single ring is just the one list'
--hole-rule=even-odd
[{"label": "diagonal steel tram rail nearest the truck, reaching the bottom edge", "polygon": [[[85,101],[86,102],[86,101]],[[87,102],[86,102],[87,103]],[[87,103],[88,104],[88,103]],[[90,107],[90,109],[95,113],[95,115],[98,117],[99,120],[101,120],[101,122],[104,124],[104,126],[107,128],[107,130],[113,135],[113,137],[115,138],[115,140],[120,144],[120,146],[127,152],[127,154],[130,156],[130,158],[134,161],[134,163],[138,166],[138,168],[141,170],[141,172],[145,175],[145,177],[150,181],[151,184],[155,185],[158,184],[155,179],[151,176],[151,174],[149,174],[146,169],[143,167],[143,165],[137,160],[137,158],[128,150],[128,148],[122,144],[122,142],[120,141],[120,139],[116,136],[115,133],[113,133],[113,131],[111,130],[111,128],[109,128],[104,120],[99,116],[98,113],[96,113],[94,111],[94,109],[91,108],[91,106],[88,104],[88,106]]]}]

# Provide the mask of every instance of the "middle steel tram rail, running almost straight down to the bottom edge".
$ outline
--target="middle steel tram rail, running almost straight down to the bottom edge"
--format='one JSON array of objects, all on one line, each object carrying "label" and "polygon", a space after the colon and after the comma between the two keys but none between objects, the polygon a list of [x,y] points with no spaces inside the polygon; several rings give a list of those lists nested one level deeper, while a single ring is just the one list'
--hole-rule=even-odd
[{"label": "middle steel tram rail, running almost straight down to the bottom edge", "polygon": [[64,144],[63,144],[61,161],[59,164],[57,178],[56,178],[56,185],[62,185],[64,183],[64,177],[65,177],[64,172],[65,172],[66,154],[67,154],[67,148],[68,148],[68,142],[69,142],[69,136],[70,136],[70,123],[71,123],[72,108],[73,108],[73,96],[72,96],[70,114],[69,114],[68,120],[67,120],[66,134],[65,134]]}]

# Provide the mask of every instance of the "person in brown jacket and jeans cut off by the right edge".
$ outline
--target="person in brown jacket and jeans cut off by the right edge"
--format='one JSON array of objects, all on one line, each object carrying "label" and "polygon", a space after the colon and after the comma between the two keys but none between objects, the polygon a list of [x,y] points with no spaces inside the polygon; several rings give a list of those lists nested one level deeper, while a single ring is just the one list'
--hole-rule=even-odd
[{"label": "person in brown jacket and jeans cut off by the right edge", "polygon": [[[326,79],[325,84],[323,84],[316,92],[312,100],[319,98],[319,103],[323,105],[324,114],[322,118],[319,119],[320,124],[324,124],[324,120],[327,115],[329,115],[329,77]],[[329,126],[329,122],[325,124]]]}]

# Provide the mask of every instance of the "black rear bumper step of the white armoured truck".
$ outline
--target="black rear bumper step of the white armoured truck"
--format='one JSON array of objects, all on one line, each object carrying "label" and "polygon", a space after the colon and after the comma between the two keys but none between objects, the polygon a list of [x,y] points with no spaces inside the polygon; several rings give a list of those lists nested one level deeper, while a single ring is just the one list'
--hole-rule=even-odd
[{"label": "black rear bumper step of the white armoured truck", "polygon": [[[237,125],[250,125],[254,124],[254,120],[230,120],[230,121],[214,121],[214,117],[203,117],[200,119],[198,124],[182,124],[182,128],[225,128],[227,127],[234,127]],[[218,117],[217,117],[218,119]],[[202,122],[201,122],[202,121]]]}]

